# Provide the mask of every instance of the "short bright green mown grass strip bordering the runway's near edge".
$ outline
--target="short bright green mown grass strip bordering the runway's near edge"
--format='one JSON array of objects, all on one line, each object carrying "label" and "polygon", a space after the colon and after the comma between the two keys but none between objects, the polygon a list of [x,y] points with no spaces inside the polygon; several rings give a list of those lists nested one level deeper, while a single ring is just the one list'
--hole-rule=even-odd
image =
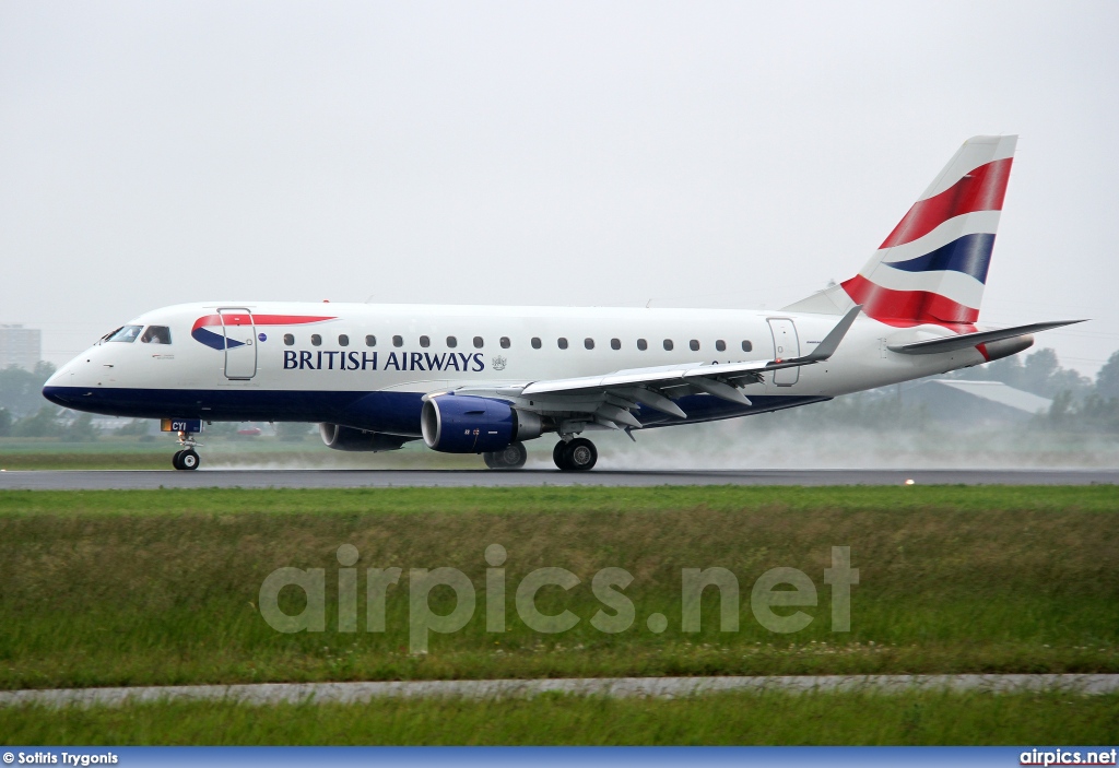
[{"label": "short bright green mown grass strip bordering the runway's near edge", "polygon": [[[658,487],[399,487],[344,490],[160,489],[158,491],[0,491],[0,519],[23,515],[190,516],[293,514],[309,518],[399,514],[600,514],[741,512],[770,518],[793,513],[909,515],[1005,512],[1059,515],[1119,513],[1112,485],[925,485],[765,487],[670,485]],[[1119,518],[1116,518],[1119,519]],[[885,531],[884,531],[885,533]]]}]

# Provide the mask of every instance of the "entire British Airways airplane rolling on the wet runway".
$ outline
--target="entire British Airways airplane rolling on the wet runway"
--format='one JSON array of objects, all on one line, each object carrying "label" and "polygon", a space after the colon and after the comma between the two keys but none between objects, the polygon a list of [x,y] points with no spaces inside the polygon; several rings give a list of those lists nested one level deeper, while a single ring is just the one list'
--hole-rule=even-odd
[{"label": "entire British Airways airplane rolling on the wet runway", "polygon": [[[1016,136],[965,142],[863,269],[780,311],[270,302],[140,315],[43,388],[59,406],[163,419],[178,470],[203,423],[319,423],[339,451],[410,440],[524,466],[558,436],[750,416],[997,360],[1071,322],[980,328]],[[841,343],[840,343],[841,342]]]}]

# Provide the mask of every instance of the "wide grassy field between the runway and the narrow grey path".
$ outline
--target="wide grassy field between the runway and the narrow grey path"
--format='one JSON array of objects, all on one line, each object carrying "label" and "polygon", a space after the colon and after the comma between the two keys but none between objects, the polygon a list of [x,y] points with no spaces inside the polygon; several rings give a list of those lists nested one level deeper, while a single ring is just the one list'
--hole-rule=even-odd
[{"label": "wide grassy field between the runway and the narrow grey path", "polygon": [[[0,688],[320,680],[612,675],[1119,672],[1119,494],[1112,487],[389,489],[0,493]],[[386,632],[337,628],[335,558],[401,567]],[[488,544],[508,551],[507,632],[486,632]],[[852,632],[830,632],[830,548],[861,582]],[[280,634],[256,607],[283,566],[326,569],[327,630]],[[478,592],[472,620],[408,646],[408,569],[450,566]],[[555,566],[582,582],[537,605],[580,617],[544,635],[513,595]],[[721,566],[741,585],[741,630],[680,628],[680,569]],[[751,588],[774,567],[812,579],[812,623],[754,620]],[[591,579],[627,569],[637,620],[606,635]],[[282,596],[298,613],[298,594]],[[453,605],[432,592],[438,613]],[[791,611],[792,608],[778,608]],[[653,634],[646,618],[668,617]]]}]

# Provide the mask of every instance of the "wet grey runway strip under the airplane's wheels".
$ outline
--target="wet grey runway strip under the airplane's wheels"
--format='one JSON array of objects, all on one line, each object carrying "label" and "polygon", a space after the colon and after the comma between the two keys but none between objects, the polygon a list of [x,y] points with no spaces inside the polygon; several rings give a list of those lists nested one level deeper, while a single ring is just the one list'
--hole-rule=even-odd
[{"label": "wet grey runway strip under the airplane's wheels", "polygon": [[162,470],[0,472],[0,490],[515,487],[528,485],[1115,485],[1119,470]]}]

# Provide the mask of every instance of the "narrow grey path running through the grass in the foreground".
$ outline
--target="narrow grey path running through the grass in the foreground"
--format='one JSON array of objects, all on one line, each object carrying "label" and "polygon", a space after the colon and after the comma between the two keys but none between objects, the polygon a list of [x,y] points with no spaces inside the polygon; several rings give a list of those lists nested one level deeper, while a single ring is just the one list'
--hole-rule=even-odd
[{"label": "narrow grey path running through the grass in the foreground", "polygon": [[671,699],[726,691],[867,691],[913,690],[1022,691],[1061,690],[1081,695],[1119,691],[1115,674],[1003,675],[803,675],[786,677],[575,677],[566,680],[417,680],[385,683],[260,683],[247,685],[167,685],[0,692],[0,707],[119,707],[151,701],[237,701],[246,704],[361,703],[383,698],[462,696],[525,698],[570,693],[611,698]]}]

